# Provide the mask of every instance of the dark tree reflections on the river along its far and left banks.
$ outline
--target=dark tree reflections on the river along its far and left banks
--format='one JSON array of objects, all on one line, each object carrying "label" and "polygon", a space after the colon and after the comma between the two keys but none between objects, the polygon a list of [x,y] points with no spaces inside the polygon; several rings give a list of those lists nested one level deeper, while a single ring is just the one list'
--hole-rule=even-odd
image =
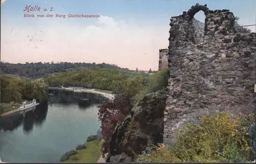
[{"label": "dark tree reflections on the river along its far and left banks", "polygon": [[[101,103],[107,98],[94,93],[74,93],[70,91],[51,91],[49,95],[49,104],[62,104],[62,105],[78,105],[79,110],[87,110],[94,104]],[[79,103],[79,99],[90,99],[89,104]],[[46,120],[48,112],[48,104],[40,104],[35,110],[26,112],[25,114],[15,113],[0,120],[0,131],[13,131],[19,126],[23,125],[23,130],[26,134],[29,134],[34,125],[42,126]]]}]

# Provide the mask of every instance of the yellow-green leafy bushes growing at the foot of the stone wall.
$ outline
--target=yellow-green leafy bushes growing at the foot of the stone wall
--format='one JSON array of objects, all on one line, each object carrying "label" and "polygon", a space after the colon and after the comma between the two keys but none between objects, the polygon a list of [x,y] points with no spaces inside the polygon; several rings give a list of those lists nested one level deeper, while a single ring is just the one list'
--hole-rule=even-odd
[{"label": "yellow-green leafy bushes growing at the foot of the stone wall", "polygon": [[199,124],[179,130],[178,142],[148,148],[137,162],[245,162],[253,157],[248,128],[251,116],[231,118],[228,113],[204,115]]}]

